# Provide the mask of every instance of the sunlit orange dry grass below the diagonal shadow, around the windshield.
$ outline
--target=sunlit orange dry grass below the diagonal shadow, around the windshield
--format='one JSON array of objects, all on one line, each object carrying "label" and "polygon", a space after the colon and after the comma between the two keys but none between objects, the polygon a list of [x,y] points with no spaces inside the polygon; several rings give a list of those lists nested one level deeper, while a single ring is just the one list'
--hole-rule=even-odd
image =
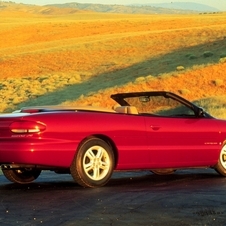
[{"label": "sunlit orange dry grass below the diagonal shadow, around the windshield", "polygon": [[[196,101],[196,103],[207,109],[213,116],[226,119],[225,68],[226,63],[219,63],[190,69],[183,73],[174,72],[158,77],[150,75],[139,77],[135,81],[120,87],[117,86],[100,90],[86,97],[82,95],[76,101],[66,101],[64,104],[94,105],[111,108],[115,103],[109,99],[109,96],[113,93],[165,90],[175,92],[191,101]],[[216,80],[216,76],[221,79]],[[202,99],[208,99],[208,101],[205,101],[205,104],[203,104],[204,101],[200,101]],[[211,104],[211,102],[214,104]],[[218,106],[218,108],[216,108],[216,106]]]}]

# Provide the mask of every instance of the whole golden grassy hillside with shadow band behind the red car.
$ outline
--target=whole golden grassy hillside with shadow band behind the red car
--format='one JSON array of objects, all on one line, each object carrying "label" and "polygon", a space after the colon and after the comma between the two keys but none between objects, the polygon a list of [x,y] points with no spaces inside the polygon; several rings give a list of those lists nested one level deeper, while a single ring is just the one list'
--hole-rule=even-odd
[{"label": "whole golden grassy hillside with shadow band behind the red car", "polygon": [[225,13],[43,10],[0,11],[1,112],[50,104],[112,107],[113,93],[168,90],[226,118]]}]

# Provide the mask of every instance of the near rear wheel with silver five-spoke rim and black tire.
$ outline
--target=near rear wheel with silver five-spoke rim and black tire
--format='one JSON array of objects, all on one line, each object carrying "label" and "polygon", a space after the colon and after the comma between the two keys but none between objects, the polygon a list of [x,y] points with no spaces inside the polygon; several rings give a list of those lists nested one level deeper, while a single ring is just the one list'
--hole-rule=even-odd
[{"label": "near rear wheel with silver five-spoke rim and black tire", "polygon": [[111,146],[92,137],[79,147],[70,171],[73,179],[83,187],[104,186],[111,178],[115,166]]}]

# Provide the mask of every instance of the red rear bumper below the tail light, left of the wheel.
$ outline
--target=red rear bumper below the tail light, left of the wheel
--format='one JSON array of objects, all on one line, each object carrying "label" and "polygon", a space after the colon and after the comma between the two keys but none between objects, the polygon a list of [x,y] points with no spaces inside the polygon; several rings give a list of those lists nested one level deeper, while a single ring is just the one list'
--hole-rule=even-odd
[{"label": "red rear bumper below the tail light, left of the wheel", "polygon": [[76,144],[59,140],[0,141],[0,165],[70,167]]}]

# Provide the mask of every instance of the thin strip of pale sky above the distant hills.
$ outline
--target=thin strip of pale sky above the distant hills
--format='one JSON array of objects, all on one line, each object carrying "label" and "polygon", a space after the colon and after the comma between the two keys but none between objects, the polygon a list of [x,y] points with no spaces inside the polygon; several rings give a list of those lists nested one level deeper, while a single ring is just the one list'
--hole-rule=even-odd
[{"label": "thin strip of pale sky above the distant hills", "polygon": [[[100,3],[100,4],[131,4],[131,3],[168,3],[172,0],[12,0],[16,3],[46,5],[54,3]],[[220,10],[226,10],[226,0],[175,0],[175,2],[195,2],[209,5]]]}]

